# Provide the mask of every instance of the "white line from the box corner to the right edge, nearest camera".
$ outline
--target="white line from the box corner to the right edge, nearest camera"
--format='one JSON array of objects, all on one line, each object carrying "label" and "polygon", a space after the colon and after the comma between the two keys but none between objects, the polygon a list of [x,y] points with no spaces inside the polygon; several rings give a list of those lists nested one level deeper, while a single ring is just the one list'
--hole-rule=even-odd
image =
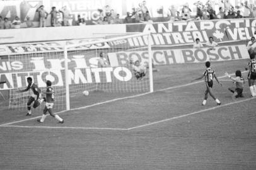
[{"label": "white line from the box corner to the right edge, nearest camera", "polygon": [[204,109],[204,110],[199,110],[199,111],[195,111],[195,112],[192,112],[192,113],[188,113],[186,115],[175,116],[175,117],[166,118],[164,120],[160,120],[160,121],[157,121],[157,122],[152,122],[152,123],[147,123],[147,124],[144,124],[144,125],[139,125],[137,127],[127,128],[127,130],[134,130],[136,128],[148,127],[148,126],[151,126],[151,125],[156,125],[158,123],[168,122],[168,121],[175,120],[175,119],[178,119],[178,118],[183,118],[183,117],[187,117],[187,116],[191,116],[191,115],[196,115],[196,114],[202,113],[204,111],[211,111],[211,110],[215,110],[215,109],[218,109],[218,108],[223,108],[224,106],[230,106],[230,105],[234,105],[236,103],[242,103],[244,101],[249,101],[249,100],[252,100],[252,99],[255,99],[255,98],[248,98],[248,99],[243,99],[243,100],[240,100],[240,101],[234,101],[234,102],[231,102],[231,103],[226,103],[224,105],[215,106],[215,107],[212,107],[212,108],[207,108],[207,109]]}]

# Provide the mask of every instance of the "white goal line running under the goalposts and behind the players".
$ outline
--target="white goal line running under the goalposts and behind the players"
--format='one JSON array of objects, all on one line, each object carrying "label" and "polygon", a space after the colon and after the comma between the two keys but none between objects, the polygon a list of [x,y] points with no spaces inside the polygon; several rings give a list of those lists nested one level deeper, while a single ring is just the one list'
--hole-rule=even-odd
[{"label": "white goal line running under the goalposts and behind the players", "polygon": [[[243,71],[241,73],[244,73],[244,72],[247,72],[247,71]],[[235,74],[230,74],[230,76],[233,76]],[[221,78],[224,78],[224,77],[227,77],[227,76],[221,76],[221,77],[218,77],[219,79]],[[180,85],[180,86],[172,86],[172,87],[169,87],[169,88],[164,88],[164,89],[159,89],[157,91],[154,91],[153,93],[155,92],[158,92],[158,91],[166,91],[166,90],[169,90],[169,89],[177,89],[177,88],[182,88],[182,87],[185,87],[185,86],[190,86],[192,84],[197,84],[199,82],[203,82],[203,81],[195,81],[195,82],[190,82],[188,84],[183,84],[183,85]],[[119,100],[122,100],[122,99],[129,99],[129,98],[137,98],[139,96],[145,96],[147,94],[151,94],[150,92],[147,92],[147,93],[142,93],[142,94],[137,94],[137,95],[134,95],[134,96],[127,96],[127,97],[124,97],[124,98],[116,98],[116,99],[110,99],[108,101],[103,101],[103,102],[99,102],[99,103],[95,103],[93,105],[88,105],[88,106],[83,106],[83,107],[79,107],[79,108],[73,108],[69,111],[74,111],[74,110],[81,110],[81,109],[86,109],[86,108],[91,108],[93,106],[98,106],[98,105],[103,105],[105,103],[111,103],[113,101],[119,101]],[[64,113],[66,112],[66,110],[63,110],[63,111],[59,111],[59,112],[56,112],[55,114],[61,114],[61,113]],[[28,120],[34,120],[34,119],[37,119],[37,118],[40,118],[41,116],[36,116],[36,117],[33,117],[33,118],[26,118],[24,120],[18,120],[18,121],[14,121],[14,122],[9,122],[9,123],[4,123],[4,124],[1,124],[0,127],[4,127],[4,126],[7,126],[7,125],[13,125],[15,123],[20,123],[20,122],[25,122],[25,121],[28,121]]]}]

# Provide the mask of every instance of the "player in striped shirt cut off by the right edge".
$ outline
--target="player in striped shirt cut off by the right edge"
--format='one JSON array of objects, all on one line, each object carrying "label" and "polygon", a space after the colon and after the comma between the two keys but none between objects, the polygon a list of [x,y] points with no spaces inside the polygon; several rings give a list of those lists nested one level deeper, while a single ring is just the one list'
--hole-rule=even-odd
[{"label": "player in striped shirt cut off by the right edge", "polygon": [[256,96],[256,84],[255,84],[255,79],[256,79],[256,59],[255,55],[251,56],[250,61],[248,62],[248,84],[250,88],[250,92],[253,97]]}]

